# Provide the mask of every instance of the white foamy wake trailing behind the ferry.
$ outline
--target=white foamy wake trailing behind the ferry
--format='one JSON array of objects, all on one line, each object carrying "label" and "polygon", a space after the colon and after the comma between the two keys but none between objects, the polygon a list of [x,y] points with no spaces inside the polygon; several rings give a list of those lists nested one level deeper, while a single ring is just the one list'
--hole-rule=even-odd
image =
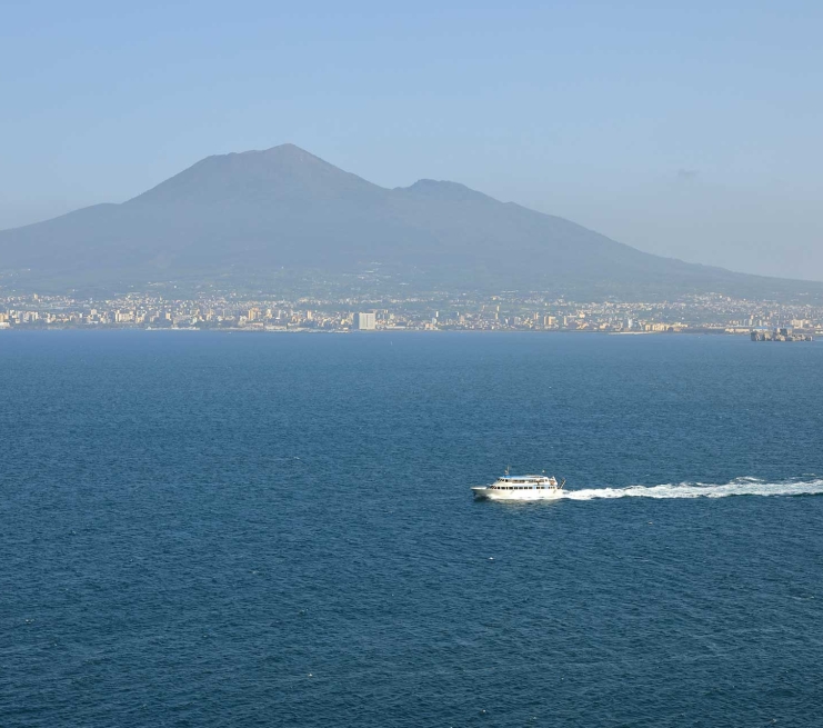
[{"label": "white foamy wake trailing behind the ferry", "polygon": [[757,478],[737,478],[724,486],[702,482],[631,486],[629,488],[583,488],[564,490],[571,500],[596,498],[727,498],[729,496],[819,496],[823,495],[823,478],[765,482]]}]

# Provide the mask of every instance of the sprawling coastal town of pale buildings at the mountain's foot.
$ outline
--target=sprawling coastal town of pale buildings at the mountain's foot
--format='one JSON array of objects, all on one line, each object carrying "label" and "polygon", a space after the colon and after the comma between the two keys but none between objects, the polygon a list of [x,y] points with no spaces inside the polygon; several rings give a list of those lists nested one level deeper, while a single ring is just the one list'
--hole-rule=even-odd
[{"label": "sprawling coastal town of pale buildings at the mountain's foot", "polygon": [[[579,302],[546,293],[432,293],[407,298],[278,298],[173,291],[76,299],[0,291],[0,329],[188,329],[230,331],[580,331],[732,333],[780,340],[823,333],[823,307],[695,295],[672,301]],[[781,335],[782,332],[782,335]]]}]

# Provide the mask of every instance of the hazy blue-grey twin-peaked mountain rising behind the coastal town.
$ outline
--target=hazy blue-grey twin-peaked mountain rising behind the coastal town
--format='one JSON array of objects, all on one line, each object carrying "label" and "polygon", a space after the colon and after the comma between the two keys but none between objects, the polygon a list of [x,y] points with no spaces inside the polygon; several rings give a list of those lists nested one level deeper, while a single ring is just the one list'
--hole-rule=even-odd
[{"label": "hazy blue-grey twin-peaked mountain rising behind the coastal town", "polygon": [[0,283],[106,286],[380,269],[419,289],[785,298],[823,283],[641,252],[455,182],[385,189],[294,147],[209,157],[121,205],[0,232]]}]

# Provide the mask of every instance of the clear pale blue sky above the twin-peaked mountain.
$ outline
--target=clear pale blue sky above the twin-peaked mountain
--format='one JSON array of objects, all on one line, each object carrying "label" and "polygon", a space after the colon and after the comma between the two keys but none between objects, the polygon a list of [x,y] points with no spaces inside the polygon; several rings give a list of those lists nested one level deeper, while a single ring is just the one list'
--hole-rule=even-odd
[{"label": "clear pale blue sky above the twin-peaked mountain", "polygon": [[819,0],[2,0],[0,229],[292,142],[823,280],[821,37]]}]

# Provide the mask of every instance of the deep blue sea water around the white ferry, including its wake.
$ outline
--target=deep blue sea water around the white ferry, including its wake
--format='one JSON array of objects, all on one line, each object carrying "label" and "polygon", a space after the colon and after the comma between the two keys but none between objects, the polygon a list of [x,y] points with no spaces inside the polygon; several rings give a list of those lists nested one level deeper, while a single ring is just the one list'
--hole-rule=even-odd
[{"label": "deep blue sea water around the white ferry, including its wake", "polygon": [[[0,332],[0,726],[821,726],[823,346]],[[559,502],[473,502],[511,465]]]}]

